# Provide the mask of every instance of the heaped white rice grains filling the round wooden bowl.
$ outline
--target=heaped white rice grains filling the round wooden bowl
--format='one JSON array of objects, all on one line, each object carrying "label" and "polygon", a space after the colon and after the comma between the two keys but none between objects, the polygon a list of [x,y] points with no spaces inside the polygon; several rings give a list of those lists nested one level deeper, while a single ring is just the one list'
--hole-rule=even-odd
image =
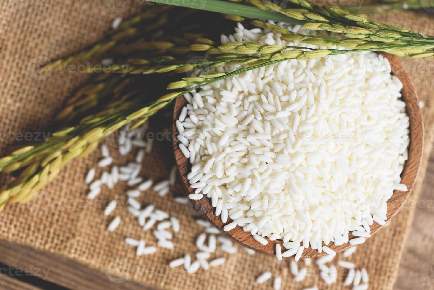
[{"label": "heaped white rice grains filling the round wooden bowl", "polygon": [[[222,42],[300,45],[236,31]],[[283,257],[364,242],[373,222],[385,224],[393,191],[407,191],[409,118],[390,72],[376,53],[290,60],[184,95],[176,125],[192,165],[189,197],[211,198],[215,214],[233,220],[225,231],[239,225],[262,244],[283,239]]]}]

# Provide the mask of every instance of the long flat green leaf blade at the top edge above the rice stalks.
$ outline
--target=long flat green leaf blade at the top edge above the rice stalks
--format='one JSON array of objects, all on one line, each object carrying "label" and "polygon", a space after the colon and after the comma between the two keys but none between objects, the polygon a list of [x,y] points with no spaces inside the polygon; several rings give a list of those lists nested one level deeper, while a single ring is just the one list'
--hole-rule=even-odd
[{"label": "long flat green leaf blade at the top edge above the rice stalks", "polygon": [[233,14],[256,19],[266,19],[273,21],[281,21],[291,24],[301,24],[303,21],[289,18],[281,13],[272,11],[260,10],[256,7],[250,7],[243,4],[237,4],[222,0],[195,0],[195,1],[179,1],[179,0],[149,0],[150,2],[163,3],[167,5],[182,6],[192,9],[206,10],[218,13]]}]

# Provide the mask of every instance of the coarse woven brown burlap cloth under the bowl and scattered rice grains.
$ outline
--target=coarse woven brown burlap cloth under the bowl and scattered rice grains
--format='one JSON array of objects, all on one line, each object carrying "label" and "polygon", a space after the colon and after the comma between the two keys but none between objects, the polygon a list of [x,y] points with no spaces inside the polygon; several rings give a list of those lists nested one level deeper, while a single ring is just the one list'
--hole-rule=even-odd
[{"label": "coarse woven brown burlap cloth under the bowl and scattered rice grains", "polygon": [[[10,0],[2,3],[5,5],[0,11],[0,131],[8,133],[6,137],[3,133],[0,144],[0,154],[4,155],[5,148],[19,138],[20,132],[37,134],[36,132],[49,128],[50,117],[61,108],[64,99],[87,79],[87,76],[80,73],[53,73],[46,79],[44,76],[31,75],[29,63],[32,63],[32,59],[38,57],[38,60],[43,56],[56,59],[79,51],[102,39],[114,17],[126,17],[138,11],[140,7],[137,3],[132,3],[125,12],[115,13],[112,10],[119,10],[113,9],[113,6],[112,10],[109,9],[107,3],[112,4],[109,0],[107,3],[104,0]],[[126,3],[129,3],[129,0]],[[145,5],[145,2],[142,4]],[[381,20],[434,35],[434,20],[429,14],[397,13]],[[431,74],[433,60],[403,58],[402,61],[411,72],[420,98],[426,100],[428,92],[432,92],[434,88],[434,78]],[[432,123],[433,111],[430,107],[431,103],[427,102],[423,110],[426,125]],[[430,133],[427,132],[427,137],[430,137]],[[425,154],[432,147],[429,145]],[[111,148],[111,152],[115,152],[115,149]],[[155,245],[156,241],[151,231],[143,231],[125,211],[125,184],[119,183],[114,190],[105,189],[98,197],[101,201],[118,199],[122,204],[115,210],[116,214],[122,216],[122,224],[113,233],[109,233],[106,227],[114,215],[104,217],[100,204],[86,202],[87,186],[83,179],[89,168],[95,167],[99,157],[99,152],[95,152],[88,158],[74,160],[64,168],[62,173],[43,189],[45,193],[42,194],[45,200],[49,201],[46,207],[36,208],[36,211],[35,208],[29,209],[25,204],[7,207],[0,214],[0,238],[64,255],[109,274],[117,270],[116,277],[125,277],[152,287],[272,288],[270,283],[255,284],[254,277],[265,269],[276,266],[276,259],[259,253],[250,256],[241,248],[237,254],[231,255],[217,250],[215,256],[227,257],[227,262],[224,266],[206,272],[199,270],[189,276],[181,268],[168,268],[168,261],[187,252],[193,254],[196,251],[194,239],[202,231],[194,223],[194,217],[186,211],[185,206],[172,200],[172,193],[168,194],[167,198],[161,198],[148,191],[141,202],[153,203],[157,208],[178,217],[181,231],[174,236],[174,249],[159,247],[156,254],[136,257],[135,248],[123,241],[126,236],[145,239],[148,245]],[[413,199],[418,195],[426,159],[418,185],[412,194]],[[122,162],[125,162],[125,159],[119,161]],[[172,164],[171,143],[158,142],[154,145],[152,153],[145,156],[141,175],[157,181],[167,178]],[[172,191],[179,193],[182,189],[178,186]],[[407,204],[393,218],[390,226],[359,246],[356,254],[348,259],[358,267],[367,268],[370,289],[393,287],[413,211],[414,207]],[[286,275],[287,269],[283,268]],[[156,275],[155,271],[159,274]],[[291,274],[284,277],[283,288],[302,289],[316,285],[320,289],[344,289],[344,274],[340,272],[338,282],[327,286],[320,279],[318,269],[310,266],[308,277],[300,283],[293,281]],[[420,289],[420,286],[415,287]]]}]

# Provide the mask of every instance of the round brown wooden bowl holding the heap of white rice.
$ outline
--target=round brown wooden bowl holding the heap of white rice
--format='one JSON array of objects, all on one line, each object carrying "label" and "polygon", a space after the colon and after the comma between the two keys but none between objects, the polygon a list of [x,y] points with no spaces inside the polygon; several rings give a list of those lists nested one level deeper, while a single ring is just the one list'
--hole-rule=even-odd
[{"label": "round brown wooden bowl holding the heap of white rice", "polygon": [[[402,63],[398,59],[397,56],[380,52],[381,55],[385,56],[392,67],[392,74],[397,76],[402,84],[403,88],[401,90],[402,93],[402,99],[407,104],[407,113],[410,117],[410,145],[409,145],[409,152],[408,152],[408,160],[405,163],[404,170],[401,174],[401,183],[405,184],[408,188],[408,191],[398,191],[395,190],[392,197],[387,202],[387,220],[386,223],[388,223],[398,210],[401,208],[401,206],[404,204],[405,200],[408,198],[408,195],[410,194],[411,189],[414,186],[414,183],[416,181],[416,177],[419,173],[419,168],[421,166],[422,161],[422,149],[423,149],[423,143],[424,143],[424,129],[423,129],[423,121],[422,121],[422,115],[421,110],[419,108],[419,100],[416,93],[416,90],[414,89],[413,83],[411,82],[410,76],[408,75],[408,72],[405,71],[404,67],[402,66]],[[173,114],[173,136],[178,135],[178,130],[175,126],[175,121],[178,120],[179,114],[181,112],[181,109],[186,105],[187,101],[184,99],[184,97],[179,97],[176,100],[175,108],[174,108],[174,114]],[[181,150],[179,149],[179,141],[178,138],[173,138],[173,146],[174,146],[174,153],[175,153],[175,159],[178,164],[179,172],[181,174],[182,181],[184,183],[184,186],[187,190],[187,192],[194,193],[194,189],[189,186],[189,182],[187,179],[187,174],[191,171],[191,164],[187,158],[184,157]],[[199,208],[204,212],[204,214],[209,218],[209,220],[214,223],[222,232],[223,227],[225,224],[229,224],[232,222],[230,218],[228,218],[227,223],[223,223],[220,219],[220,217],[217,217],[214,214],[214,207],[211,205],[209,198],[202,198],[199,201],[195,201]],[[380,224],[377,224],[374,222],[371,227],[371,234],[375,234],[378,232],[378,230],[381,229]],[[269,254],[275,254],[275,245],[280,244],[282,246],[283,241],[276,240],[276,241],[270,241],[270,239],[266,238],[268,243],[266,245],[260,244],[258,241],[256,241],[252,234],[250,232],[243,231],[242,227],[238,226],[235,227],[231,231],[224,232],[225,234],[230,235],[235,240],[242,243],[244,246],[253,248],[255,250],[259,250],[262,252],[266,252]],[[351,239],[354,237],[352,234],[350,234],[349,238]],[[335,246],[333,243],[330,243],[329,247],[332,250],[335,250],[335,252],[340,252],[343,250],[348,249],[349,247],[352,247],[349,243],[343,244],[341,246]],[[314,250],[312,248],[307,248],[303,251],[302,257],[321,257],[325,256],[326,254],[322,252],[321,254],[318,253],[317,250]]]}]

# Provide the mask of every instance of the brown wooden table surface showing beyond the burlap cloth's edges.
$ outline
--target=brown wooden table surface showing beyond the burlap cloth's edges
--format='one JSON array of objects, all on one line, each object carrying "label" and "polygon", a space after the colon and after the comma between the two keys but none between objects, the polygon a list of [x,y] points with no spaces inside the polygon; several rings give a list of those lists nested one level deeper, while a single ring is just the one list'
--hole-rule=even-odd
[{"label": "brown wooden table surface showing beyond the burlap cloth's edges", "polygon": [[[395,290],[434,289],[434,151],[418,198]],[[31,274],[27,274],[30,272]],[[0,240],[0,289],[146,289],[64,257]]]}]

